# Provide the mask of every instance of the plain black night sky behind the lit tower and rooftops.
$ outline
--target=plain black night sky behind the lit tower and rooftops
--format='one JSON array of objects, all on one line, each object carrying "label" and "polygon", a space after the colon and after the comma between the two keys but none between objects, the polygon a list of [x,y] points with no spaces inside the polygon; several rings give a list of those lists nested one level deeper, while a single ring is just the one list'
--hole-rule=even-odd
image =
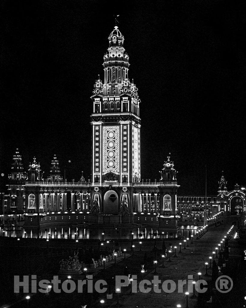
[{"label": "plain black night sky behind the lit tower and rooftops", "polygon": [[[27,170],[56,154],[90,177],[93,85],[120,14],[129,77],[141,99],[141,178],[171,152],[180,194],[245,179],[244,1],[1,1],[1,189],[15,148]],[[71,160],[71,163],[68,163]]]}]

